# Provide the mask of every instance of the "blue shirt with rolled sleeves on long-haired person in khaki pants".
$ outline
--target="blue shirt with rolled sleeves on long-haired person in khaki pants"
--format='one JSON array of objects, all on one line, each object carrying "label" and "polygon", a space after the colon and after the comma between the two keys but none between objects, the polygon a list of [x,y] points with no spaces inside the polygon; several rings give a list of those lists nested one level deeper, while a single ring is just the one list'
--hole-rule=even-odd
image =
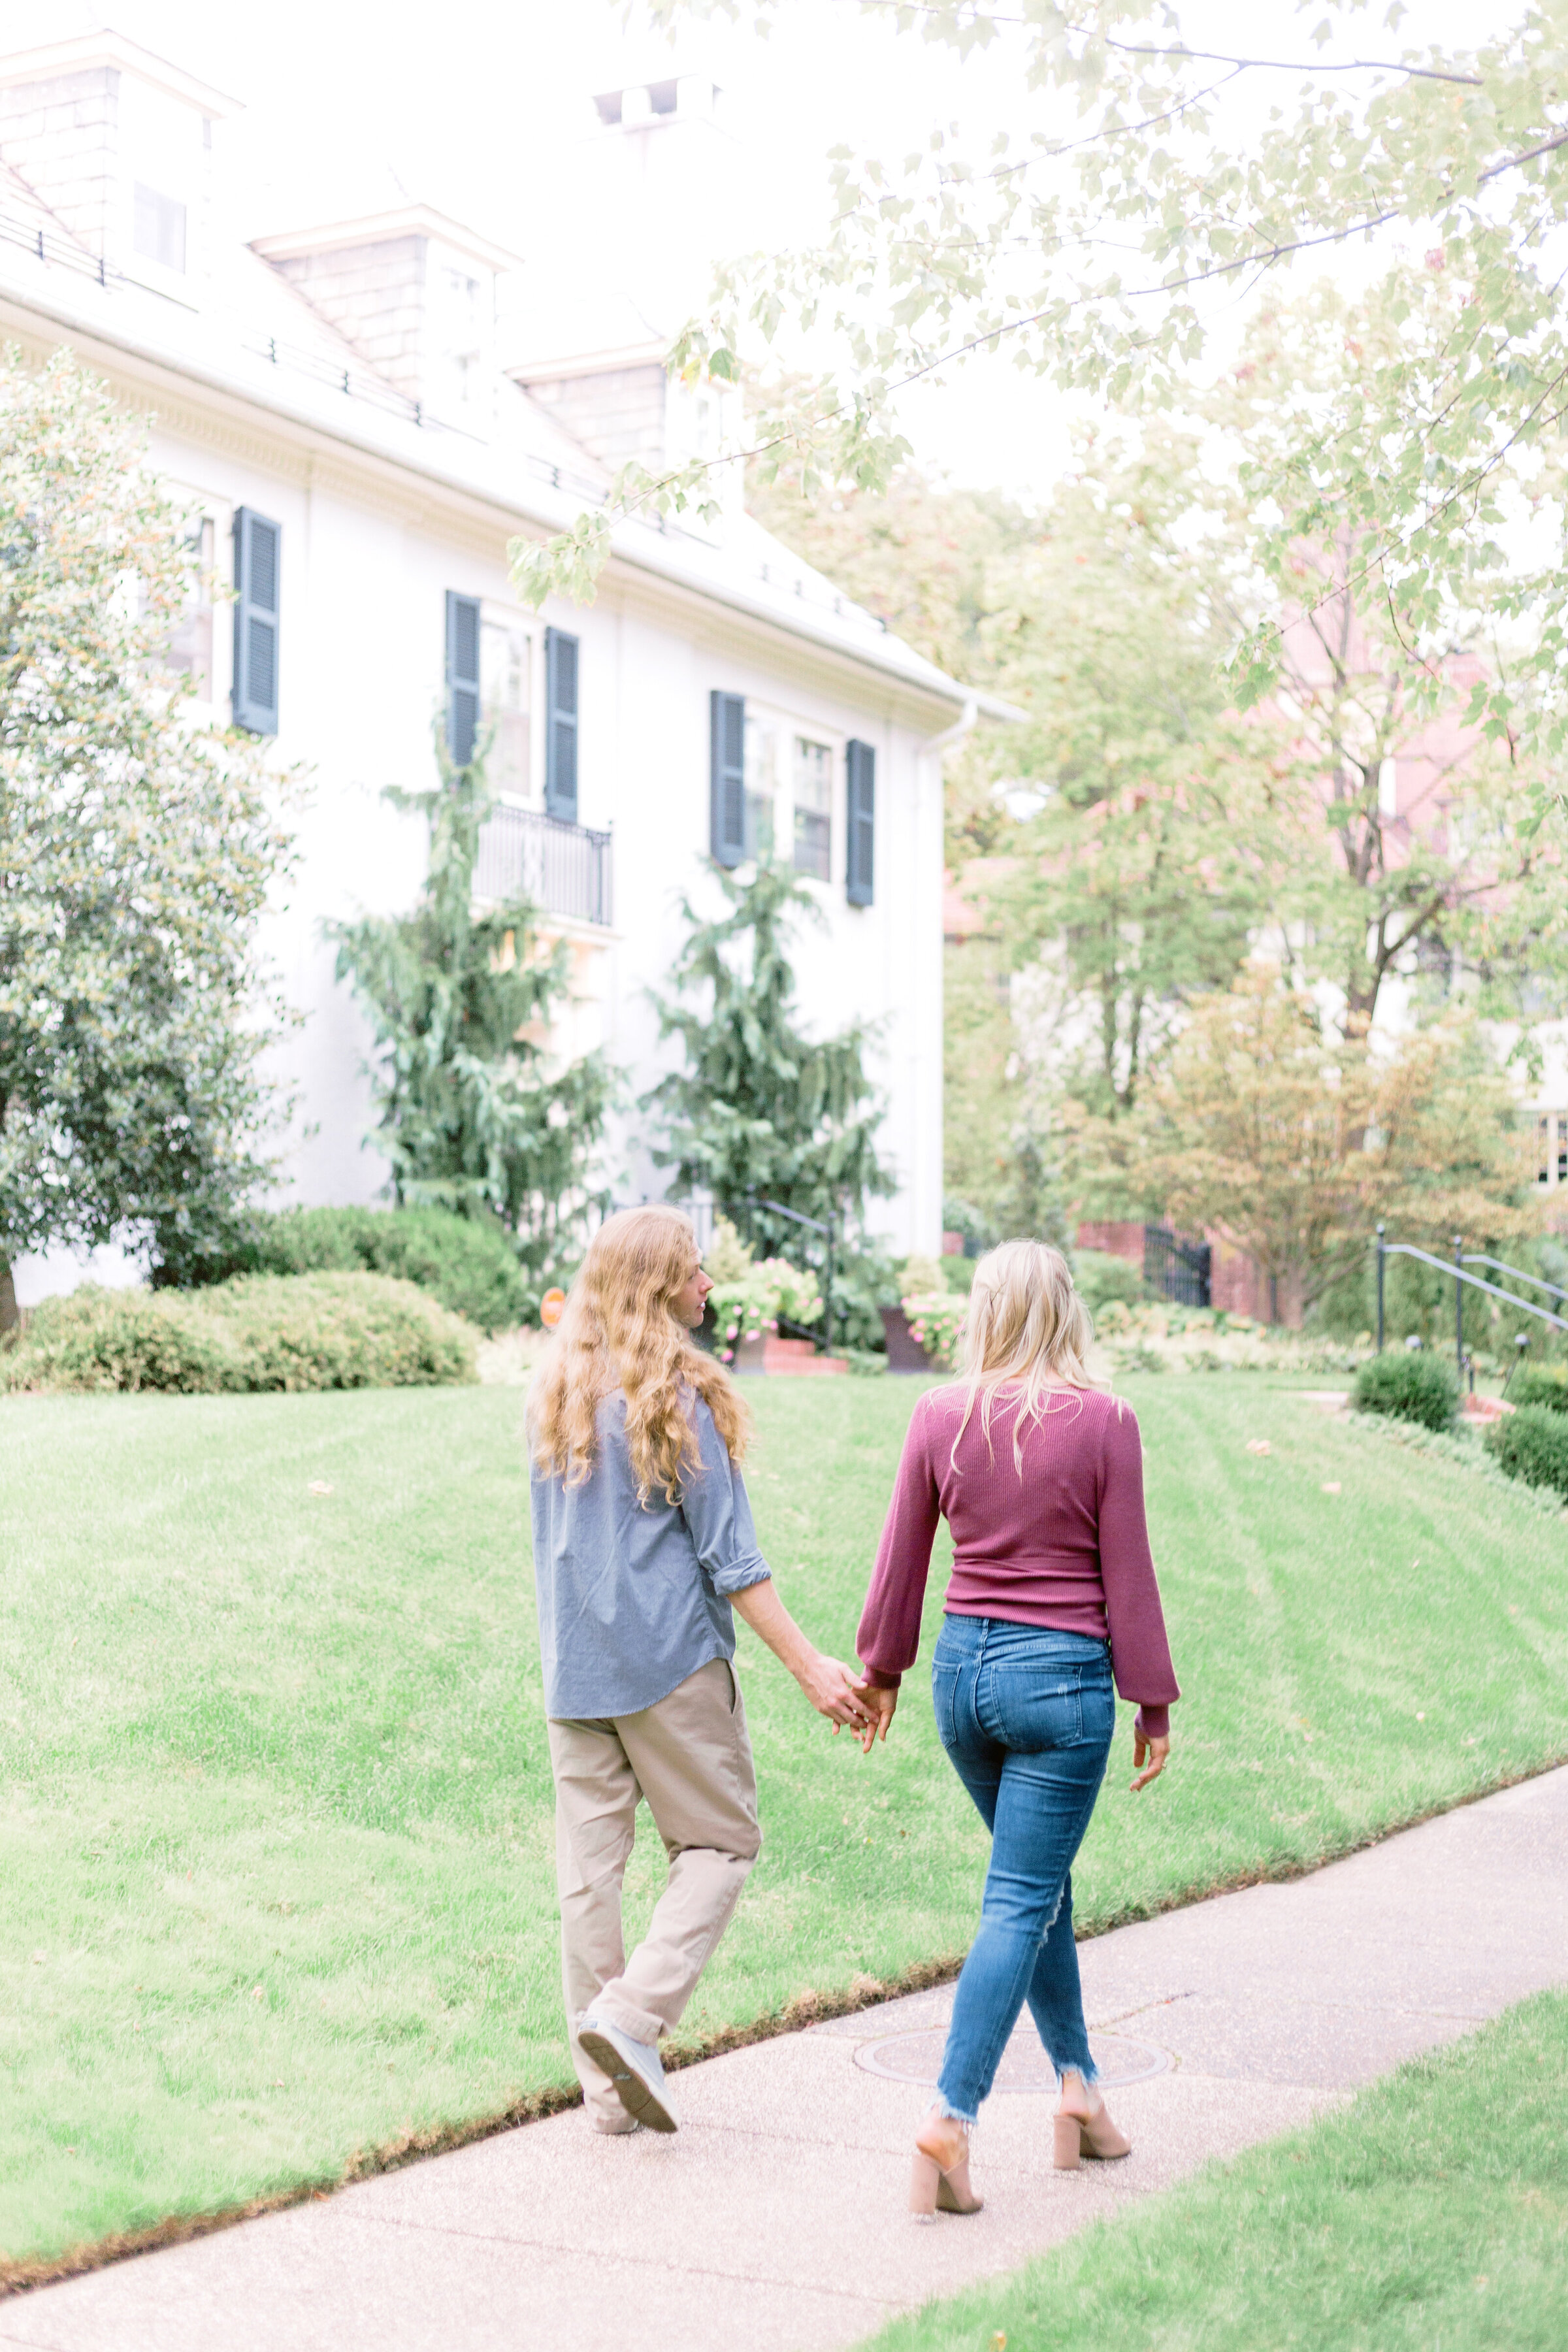
[{"label": "blue shirt with rolled sleeves on long-haired person in khaki pants", "polygon": [[637,1503],[625,1397],[604,1397],[599,1449],[583,1486],[534,1470],[534,1585],[545,1715],[637,1715],[698,1665],[736,1656],[726,1595],[771,1573],[757,1550],[745,1479],[701,1397],[686,1414],[703,1472],[679,1503],[656,1486]]}]

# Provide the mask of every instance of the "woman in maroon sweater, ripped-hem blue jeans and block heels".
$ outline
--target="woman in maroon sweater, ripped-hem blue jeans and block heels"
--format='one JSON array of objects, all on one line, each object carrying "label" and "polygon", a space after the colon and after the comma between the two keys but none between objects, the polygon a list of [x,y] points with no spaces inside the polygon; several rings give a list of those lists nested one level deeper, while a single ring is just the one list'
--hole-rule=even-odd
[{"label": "woman in maroon sweater, ripped-hem blue jeans and block heels", "polygon": [[1091,1388],[1091,1338],[1058,1249],[1004,1242],[980,1258],[966,1376],[914,1406],[856,1639],[865,1703],[886,1738],[945,1517],[954,1559],[931,1661],[936,1729],[992,1832],[992,1858],[938,2098],[914,2136],[910,2206],[922,2220],[938,2204],[978,2211],[969,2133],[1025,1999],[1060,2084],[1056,2164],[1131,2152],[1095,2089],[1072,1858],[1110,1755],[1112,1672],[1140,1703],[1133,1790],[1166,1769],[1180,1691],[1143,1517],[1138,1421]]}]

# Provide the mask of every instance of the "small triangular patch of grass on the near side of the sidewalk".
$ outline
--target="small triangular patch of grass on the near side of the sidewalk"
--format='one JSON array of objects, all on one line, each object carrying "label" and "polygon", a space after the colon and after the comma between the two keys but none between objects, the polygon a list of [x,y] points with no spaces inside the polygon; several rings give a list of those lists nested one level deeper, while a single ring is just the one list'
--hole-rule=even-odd
[{"label": "small triangular patch of grass on the near side of the sidewalk", "polygon": [[860,2352],[1561,2352],[1568,1997]]}]

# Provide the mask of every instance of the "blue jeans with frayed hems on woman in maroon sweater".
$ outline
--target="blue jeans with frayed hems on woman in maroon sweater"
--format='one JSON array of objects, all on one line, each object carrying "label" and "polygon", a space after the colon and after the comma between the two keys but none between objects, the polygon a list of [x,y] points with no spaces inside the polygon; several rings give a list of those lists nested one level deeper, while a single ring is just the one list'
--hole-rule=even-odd
[{"label": "blue jeans with frayed hems on woman in maroon sweater", "polygon": [[959,1990],[938,2107],[973,2124],[1025,1999],[1051,2065],[1095,2079],[1072,1943],[1072,1856],[1117,1722],[1105,1642],[1081,1632],[943,1621],[931,1661],[936,1729],[992,1832],[980,1933]]}]

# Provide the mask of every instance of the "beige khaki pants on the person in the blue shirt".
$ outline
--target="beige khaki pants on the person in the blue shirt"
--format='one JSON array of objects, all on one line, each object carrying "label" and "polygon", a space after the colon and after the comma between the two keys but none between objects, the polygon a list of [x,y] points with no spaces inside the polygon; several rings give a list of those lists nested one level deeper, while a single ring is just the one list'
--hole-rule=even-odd
[{"label": "beige khaki pants on the person in the blue shirt", "polygon": [[[621,2098],[578,2044],[583,2013],[597,2009],[635,2042],[677,2025],[762,1846],[741,1684],[710,1658],[639,1715],[550,1719],[550,1766],[571,2060],[588,2107],[618,2119]],[[639,1797],[670,1879],[628,1962],[621,1879]]]}]

